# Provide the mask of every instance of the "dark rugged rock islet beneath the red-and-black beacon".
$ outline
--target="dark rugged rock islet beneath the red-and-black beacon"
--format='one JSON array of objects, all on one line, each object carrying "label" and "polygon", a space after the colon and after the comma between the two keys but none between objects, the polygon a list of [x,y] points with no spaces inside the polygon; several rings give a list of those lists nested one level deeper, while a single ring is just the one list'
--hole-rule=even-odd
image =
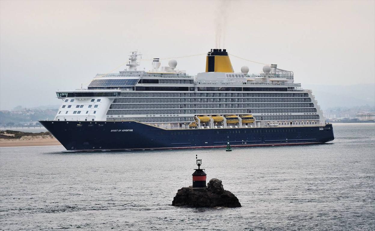
[{"label": "dark rugged rock islet beneath the red-and-black beacon", "polygon": [[224,190],[221,180],[211,179],[205,188],[187,188],[178,189],[176,196],[173,198],[172,206],[189,206],[189,207],[241,207],[237,197]]}]

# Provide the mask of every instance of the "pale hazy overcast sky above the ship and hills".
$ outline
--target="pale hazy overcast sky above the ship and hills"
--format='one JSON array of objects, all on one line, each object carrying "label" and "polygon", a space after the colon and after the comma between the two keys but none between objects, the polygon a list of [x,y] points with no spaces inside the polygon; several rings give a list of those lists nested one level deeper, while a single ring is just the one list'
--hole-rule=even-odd
[{"label": "pale hazy overcast sky above the ship and hills", "polygon": [[[56,90],[80,88],[124,63],[130,51],[144,59],[203,54],[218,35],[230,54],[276,63],[302,85],[375,82],[371,0],[0,0],[0,110],[60,104]],[[177,61],[191,75],[205,70],[204,55]],[[231,61],[238,72],[263,67]],[[142,61],[139,69],[150,67]]]}]

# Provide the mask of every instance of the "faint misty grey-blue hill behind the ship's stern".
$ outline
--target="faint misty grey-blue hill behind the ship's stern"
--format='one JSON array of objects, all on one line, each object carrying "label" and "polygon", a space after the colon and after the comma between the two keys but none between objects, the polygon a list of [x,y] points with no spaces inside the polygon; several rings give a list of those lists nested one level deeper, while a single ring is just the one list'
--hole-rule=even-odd
[{"label": "faint misty grey-blue hill behind the ship's stern", "polygon": [[375,84],[340,85],[302,85],[311,89],[322,110],[330,107],[354,107],[375,105]]}]

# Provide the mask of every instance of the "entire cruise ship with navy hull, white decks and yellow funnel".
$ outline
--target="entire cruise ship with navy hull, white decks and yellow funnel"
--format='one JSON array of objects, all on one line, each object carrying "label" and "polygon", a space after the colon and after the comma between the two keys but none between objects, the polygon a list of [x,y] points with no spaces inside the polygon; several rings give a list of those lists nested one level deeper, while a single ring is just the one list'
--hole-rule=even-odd
[{"label": "entire cruise ship with navy hull, white decks and yellow funnel", "polygon": [[[207,53],[205,72],[177,70],[177,61],[137,70],[98,74],[87,89],[57,91],[62,100],[53,121],[40,123],[67,150],[220,148],[326,143],[332,124],[310,90],[292,71],[265,65],[235,72],[226,49]],[[202,64],[202,68],[204,64]]]}]

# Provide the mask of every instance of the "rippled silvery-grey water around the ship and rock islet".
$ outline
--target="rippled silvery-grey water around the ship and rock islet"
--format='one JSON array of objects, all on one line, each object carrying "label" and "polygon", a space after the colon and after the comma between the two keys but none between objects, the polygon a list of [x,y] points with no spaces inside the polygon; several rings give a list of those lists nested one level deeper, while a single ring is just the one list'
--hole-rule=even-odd
[{"label": "rippled silvery-grey water around the ship and rock islet", "polygon": [[[137,152],[0,148],[0,230],[374,230],[375,124],[323,145]],[[243,207],[172,207],[195,154]]]}]

